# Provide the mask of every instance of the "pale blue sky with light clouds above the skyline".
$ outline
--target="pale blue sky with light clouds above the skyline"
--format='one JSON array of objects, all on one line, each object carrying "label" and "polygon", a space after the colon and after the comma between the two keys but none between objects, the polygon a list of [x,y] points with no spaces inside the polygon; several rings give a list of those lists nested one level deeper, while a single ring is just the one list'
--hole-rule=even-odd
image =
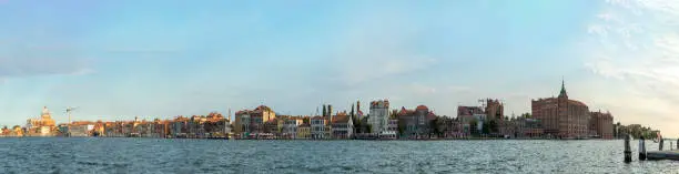
[{"label": "pale blue sky with light clouds above the skyline", "polygon": [[0,125],[558,95],[679,135],[679,1],[0,0]]}]

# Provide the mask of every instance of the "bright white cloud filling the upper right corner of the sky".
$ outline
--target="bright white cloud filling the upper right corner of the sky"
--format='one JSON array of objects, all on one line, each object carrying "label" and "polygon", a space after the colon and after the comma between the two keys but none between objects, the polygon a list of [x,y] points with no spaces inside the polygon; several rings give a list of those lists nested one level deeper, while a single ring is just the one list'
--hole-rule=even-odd
[{"label": "bright white cloud filling the upper right corner of the sky", "polygon": [[587,29],[585,65],[630,84],[634,103],[665,114],[653,117],[671,117],[668,103],[679,103],[679,1],[606,2]]}]

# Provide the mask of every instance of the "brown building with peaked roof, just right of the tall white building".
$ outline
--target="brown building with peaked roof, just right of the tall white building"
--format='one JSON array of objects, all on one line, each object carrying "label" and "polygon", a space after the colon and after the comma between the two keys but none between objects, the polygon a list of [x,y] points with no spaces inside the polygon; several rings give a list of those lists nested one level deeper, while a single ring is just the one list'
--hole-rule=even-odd
[{"label": "brown building with peaked roof, just right of the tall white building", "polygon": [[407,139],[428,137],[433,130],[432,121],[436,120],[436,114],[429,111],[426,105],[418,105],[415,110],[401,108],[396,114],[402,131],[402,136]]}]

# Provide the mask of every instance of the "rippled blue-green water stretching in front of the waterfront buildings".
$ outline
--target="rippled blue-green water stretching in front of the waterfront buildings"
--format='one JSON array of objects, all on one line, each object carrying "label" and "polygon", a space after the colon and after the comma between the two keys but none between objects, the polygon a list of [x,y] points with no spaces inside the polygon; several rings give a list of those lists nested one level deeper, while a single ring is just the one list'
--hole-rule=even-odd
[{"label": "rippled blue-green water stretching in front of the waterfront buildings", "polygon": [[622,163],[621,141],[0,139],[0,173],[679,172],[672,161]]}]

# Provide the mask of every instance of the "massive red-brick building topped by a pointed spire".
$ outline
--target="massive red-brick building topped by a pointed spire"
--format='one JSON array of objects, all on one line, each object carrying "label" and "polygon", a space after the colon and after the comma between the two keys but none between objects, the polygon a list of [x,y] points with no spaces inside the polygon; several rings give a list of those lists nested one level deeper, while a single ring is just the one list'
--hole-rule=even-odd
[{"label": "massive red-brick building topped by a pointed spire", "polygon": [[589,109],[580,101],[569,100],[564,83],[558,98],[531,100],[531,110],[548,135],[580,139],[589,134]]}]

